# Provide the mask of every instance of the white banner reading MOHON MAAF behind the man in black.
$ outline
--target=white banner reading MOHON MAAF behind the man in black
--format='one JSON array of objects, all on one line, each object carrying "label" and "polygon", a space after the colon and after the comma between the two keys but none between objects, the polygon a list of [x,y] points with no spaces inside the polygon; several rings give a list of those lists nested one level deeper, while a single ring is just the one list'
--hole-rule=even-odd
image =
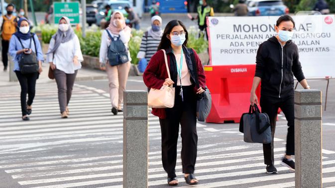
[{"label": "white banner reading MOHON MAAF behind the man in black", "polygon": [[[209,17],[212,65],[255,64],[258,46],[276,34],[278,16]],[[335,76],[335,16],[293,16],[306,77]]]}]

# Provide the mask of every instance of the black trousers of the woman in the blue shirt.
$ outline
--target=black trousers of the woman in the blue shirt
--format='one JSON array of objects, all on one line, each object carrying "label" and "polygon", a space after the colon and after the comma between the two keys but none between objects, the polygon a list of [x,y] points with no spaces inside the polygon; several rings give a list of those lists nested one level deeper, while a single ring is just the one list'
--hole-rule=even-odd
[{"label": "black trousers of the woman in the blue shirt", "polygon": [[[27,105],[31,106],[35,97],[36,80],[38,79],[38,72],[31,74],[22,74],[20,71],[15,71],[16,77],[21,85],[21,111],[22,116],[27,115]],[[28,102],[27,100],[28,94]]]}]

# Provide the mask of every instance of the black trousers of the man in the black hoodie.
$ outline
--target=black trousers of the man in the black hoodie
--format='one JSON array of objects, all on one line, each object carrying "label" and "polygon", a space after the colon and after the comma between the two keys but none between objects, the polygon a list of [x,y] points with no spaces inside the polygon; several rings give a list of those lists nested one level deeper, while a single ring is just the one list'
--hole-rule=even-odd
[{"label": "black trousers of the man in the black hoodie", "polygon": [[294,96],[274,98],[261,95],[260,106],[262,108],[262,113],[268,114],[272,130],[272,142],[263,144],[264,163],[266,165],[273,165],[273,138],[276,130],[278,108],[283,111],[288,125],[286,155],[294,155]]}]

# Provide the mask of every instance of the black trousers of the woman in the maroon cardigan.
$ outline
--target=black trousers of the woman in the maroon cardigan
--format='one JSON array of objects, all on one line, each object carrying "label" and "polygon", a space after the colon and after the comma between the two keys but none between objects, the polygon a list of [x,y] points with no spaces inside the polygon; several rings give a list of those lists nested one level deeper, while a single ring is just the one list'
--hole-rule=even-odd
[{"label": "black trousers of the woman in the maroon cardigan", "polygon": [[180,86],[176,87],[175,105],[166,109],[166,119],[160,119],[162,132],[162,162],[168,177],[176,177],[177,142],[179,124],[182,137],[183,173],[193,174],[197,159],[197,99],[194,86],[183,86],[184,101],[179,95]]}]

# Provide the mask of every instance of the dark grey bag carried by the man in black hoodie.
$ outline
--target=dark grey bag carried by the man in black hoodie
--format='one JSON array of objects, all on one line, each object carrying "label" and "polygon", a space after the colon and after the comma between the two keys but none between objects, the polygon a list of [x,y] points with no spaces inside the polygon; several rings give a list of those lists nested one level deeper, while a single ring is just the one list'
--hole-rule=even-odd
[{"label": "dark grey bag carried by the man in black hoodie", "polygon": [[266,113],[260,113],[257,105],[251,106],[239,122],[239,131],[244,133],[244,141],[250,143],[271,143],[271,124]]}]

